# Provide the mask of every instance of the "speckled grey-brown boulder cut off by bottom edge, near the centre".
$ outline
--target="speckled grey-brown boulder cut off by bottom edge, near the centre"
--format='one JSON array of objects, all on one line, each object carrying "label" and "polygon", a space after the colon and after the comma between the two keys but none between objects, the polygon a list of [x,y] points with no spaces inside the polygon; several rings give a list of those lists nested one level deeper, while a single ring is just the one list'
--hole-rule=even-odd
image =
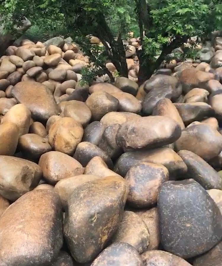
[{"label": "speckled grey-brown boulder cut off by bottom edge, near the centre", "polygon": [[144,266],[139,253],[128,243],[114,243],[104,249],[91,266]]}]

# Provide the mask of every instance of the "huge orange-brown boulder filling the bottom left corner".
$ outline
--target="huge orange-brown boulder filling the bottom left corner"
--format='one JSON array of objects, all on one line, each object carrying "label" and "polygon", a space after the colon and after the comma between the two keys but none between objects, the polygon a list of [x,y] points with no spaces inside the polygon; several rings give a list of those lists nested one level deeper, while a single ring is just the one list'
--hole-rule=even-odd
[{"label": "huge orange-brown boulder filling the bottom left corner", "polygon": [[0,241],[2,266],[50,265],[63,243],[58,195],[41,189],[20,197],[0,218]]}]

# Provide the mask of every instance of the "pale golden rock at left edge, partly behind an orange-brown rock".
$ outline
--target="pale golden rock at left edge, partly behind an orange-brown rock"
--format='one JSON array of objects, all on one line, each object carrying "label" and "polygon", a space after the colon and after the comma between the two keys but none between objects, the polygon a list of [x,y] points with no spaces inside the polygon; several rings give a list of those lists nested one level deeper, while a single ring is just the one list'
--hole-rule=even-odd
[{"label": "pale golden rock at left edge, partly behind an orange-brown rock", "polygon": [[1,123],[11,122],[17,125],[19,129],[19,136],[28,133],[31,121],[31,112],[25,106],[25,104],[20,103],[12,106],[12,108],[5,114]]}]

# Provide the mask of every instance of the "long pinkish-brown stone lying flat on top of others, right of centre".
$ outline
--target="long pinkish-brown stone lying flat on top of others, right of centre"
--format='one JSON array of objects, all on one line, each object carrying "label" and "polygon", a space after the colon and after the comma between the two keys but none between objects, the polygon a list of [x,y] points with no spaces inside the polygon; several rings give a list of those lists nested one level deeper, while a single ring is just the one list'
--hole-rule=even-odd
[{"label": "long pinkish-brown stone lying flat on top of others, right of centre", "polygon": [[181,127],[173,119],[149,116],[123,123],[115,139],[116,144],[123,148],[152,149],[173,143],[180,136]]}]

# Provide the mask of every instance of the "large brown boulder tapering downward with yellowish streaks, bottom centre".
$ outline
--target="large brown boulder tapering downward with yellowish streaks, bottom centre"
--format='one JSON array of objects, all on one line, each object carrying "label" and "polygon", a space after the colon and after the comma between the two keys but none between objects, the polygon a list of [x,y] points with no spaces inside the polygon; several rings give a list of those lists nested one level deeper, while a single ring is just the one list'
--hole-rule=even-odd
[{"label": "large brown boulder tapering downward with yellowish streaks, bottom centre", "polygon": [[77,262],[90,262],[104,249],[123,217],[127,194],[126,182],[117,176],[87,182],[73,191],[64,236]]}]

